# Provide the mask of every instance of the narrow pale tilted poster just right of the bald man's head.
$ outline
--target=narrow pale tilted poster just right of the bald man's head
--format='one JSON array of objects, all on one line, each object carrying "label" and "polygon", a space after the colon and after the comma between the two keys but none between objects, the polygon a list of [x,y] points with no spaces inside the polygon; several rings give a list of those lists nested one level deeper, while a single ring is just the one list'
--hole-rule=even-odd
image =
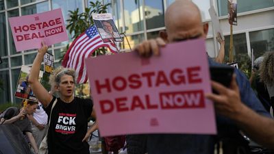
[{"label": "narrow pale tilted poster just right of the bald man's head", "polygon": [[214,29],[215,36],[221,35],[221,39],[225,40],[225,38],[223,37],[223,31],[222,31],[221,26],[220,26],[219,17],[216,14],[216,11],[215,11],[213,5],[210,6],[210,9],[208,10],[208,12],[210,12],[210,17],[211,17],[211,20],[212,20],[212,26],[213,26],[213,29]]}]

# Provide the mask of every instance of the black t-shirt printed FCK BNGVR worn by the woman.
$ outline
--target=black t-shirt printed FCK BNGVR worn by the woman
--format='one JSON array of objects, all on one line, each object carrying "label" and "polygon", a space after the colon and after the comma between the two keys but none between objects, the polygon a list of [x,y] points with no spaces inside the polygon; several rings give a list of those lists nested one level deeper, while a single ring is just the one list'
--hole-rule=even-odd
[{"label": "black t-shirt printed FCK BNGVR worn by the woman", "polygon": [[[50,116],[55,97],[46,108]],[[51,114],[47,136],[49,154],[89,154],[88,142],[82,142],[88,128],[88,118],[92,112],[92,101],[75,97],[71,103],[58,98]]]}]

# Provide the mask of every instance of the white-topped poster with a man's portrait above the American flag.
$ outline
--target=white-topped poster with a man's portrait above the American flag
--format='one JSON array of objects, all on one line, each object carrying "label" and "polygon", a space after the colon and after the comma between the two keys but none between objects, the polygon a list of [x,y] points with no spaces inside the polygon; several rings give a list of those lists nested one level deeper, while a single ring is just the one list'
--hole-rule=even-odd
[{"label": "white-topped poster with a man's portrait above the American flag", "polygon": [[112,14],[92,14],[92,19],[103,42],[123,42],[123,38],[121,38],[113,21]]}]

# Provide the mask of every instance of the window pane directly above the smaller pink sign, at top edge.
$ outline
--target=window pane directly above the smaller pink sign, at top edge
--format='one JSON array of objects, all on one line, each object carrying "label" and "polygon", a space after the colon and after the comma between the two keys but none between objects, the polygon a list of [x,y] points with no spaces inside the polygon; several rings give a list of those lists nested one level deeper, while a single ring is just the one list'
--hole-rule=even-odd
[{"label": "window pane directly above the smaller pink sign, at top edge", "polygon": [[49,2],[36,3],[22,8],[22,16],[49,11]]}]

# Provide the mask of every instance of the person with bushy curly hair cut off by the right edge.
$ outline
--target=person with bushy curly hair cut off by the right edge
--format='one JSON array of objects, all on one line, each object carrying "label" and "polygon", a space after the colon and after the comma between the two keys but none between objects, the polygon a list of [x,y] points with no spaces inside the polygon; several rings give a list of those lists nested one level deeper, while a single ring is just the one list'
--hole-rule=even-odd
[{"label": "person with bushy curly hair cut off by the right edge", "polygon": [[271,115],[273,116],[274,107],[274,52],[266,52],[263,55],[264,60],[260,65],[260,81],[266,84],[267,91],[269,92],[270,102],[271,102]]}]

